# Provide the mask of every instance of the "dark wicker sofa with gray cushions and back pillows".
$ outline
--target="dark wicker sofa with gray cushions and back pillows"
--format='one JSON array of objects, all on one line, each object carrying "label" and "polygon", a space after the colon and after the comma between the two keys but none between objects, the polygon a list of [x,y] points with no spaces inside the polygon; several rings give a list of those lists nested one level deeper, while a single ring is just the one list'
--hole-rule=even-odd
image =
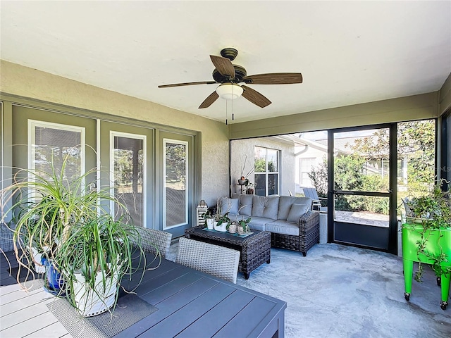
[{"label": "dark wicker sofa with gray cushions and back pillows", "polygon": [[311,198],[232,194],[222,199],[231,220],[251,218],[251,230],[271,232],[271,246],[302,252],[319,243],[319,212],[311,211]]}]

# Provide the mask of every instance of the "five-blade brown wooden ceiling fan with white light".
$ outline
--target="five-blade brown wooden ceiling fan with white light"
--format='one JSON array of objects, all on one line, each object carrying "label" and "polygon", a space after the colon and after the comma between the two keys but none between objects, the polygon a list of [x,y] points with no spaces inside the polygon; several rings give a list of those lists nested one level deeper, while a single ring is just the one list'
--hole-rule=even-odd
[{"label": "five-blade brown wooden ceiling fan with white light", "polygon": [[199,108],[207,108],[218,99],[237,99],[241,95],[251,101],[252,104],[264,108],[271,104],[263,94],[247,87],[246,84],[293,84],[302,83],[301,73],[269,73],[247,75],[244,67],[234,65],[238,51],[234,48],[225,48],[221,51],[221,56],[211,55],[211,62],[214,64],[213,70],[214,81],[185,82],[174,84],[161,84],[159,88],[191,86],[193,84],[220,84],[214,92],[212,92]]}]

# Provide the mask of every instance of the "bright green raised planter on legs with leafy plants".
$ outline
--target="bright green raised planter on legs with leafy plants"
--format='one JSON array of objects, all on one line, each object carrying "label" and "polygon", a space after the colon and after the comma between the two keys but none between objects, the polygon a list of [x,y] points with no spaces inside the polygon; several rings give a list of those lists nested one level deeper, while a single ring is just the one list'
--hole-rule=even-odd
[{"label": "bright green raised planter on legs with leafy plants", "polygon": [[[446,186],[445,191],[441,188]],[[405,299],[412,289],[413,262],[419,262],[414,279],[421,282],[422,263],[431,265],[442,282],[441,308],[447,306],[451,277],[451,203],[449,182],[440,180],[433,191],[404,200],[407,222],[402,225]]]}]

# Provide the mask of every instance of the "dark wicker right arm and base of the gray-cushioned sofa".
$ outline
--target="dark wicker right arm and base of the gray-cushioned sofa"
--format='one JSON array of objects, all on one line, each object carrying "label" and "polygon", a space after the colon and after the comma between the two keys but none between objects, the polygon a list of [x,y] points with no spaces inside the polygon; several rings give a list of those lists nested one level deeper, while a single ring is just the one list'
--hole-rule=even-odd
[{"label": "dark wicker right arm and base of the gray-cushioned sofa", "polygon": [[308,211],[299,218],[299,236],[271,233],[271,245],[275,248],[300,251],[304,256],[307,251],[319,243],[319,212]]}]

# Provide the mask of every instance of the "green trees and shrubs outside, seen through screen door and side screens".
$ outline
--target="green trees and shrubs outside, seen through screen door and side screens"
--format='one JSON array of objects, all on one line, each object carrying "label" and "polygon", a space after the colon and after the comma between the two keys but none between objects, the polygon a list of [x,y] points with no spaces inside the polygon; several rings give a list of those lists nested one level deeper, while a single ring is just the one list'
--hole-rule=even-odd
[{"label": "green trees and shrubs outside, seen through screen door and side screens", "polygon": [[[352,154],[335,157],[335,189],[386,191],[388,177],[378,173],[365,173],[371,161],[388,159],[390,135],[388,128],[376,130],[369,137],[355,139],[346,144]],[[435,177],[435,121],[421,120],[397,124],[398,158],[407,158],[407,192],[406,195],[424,191],[424,184],[433,186]],[[309,177],[317,191],[326,196],[327,162],[313,168]],[[388,213],[388,199],[370,196],[338,196],[335,206],[343,211],[373,211]]]}]

